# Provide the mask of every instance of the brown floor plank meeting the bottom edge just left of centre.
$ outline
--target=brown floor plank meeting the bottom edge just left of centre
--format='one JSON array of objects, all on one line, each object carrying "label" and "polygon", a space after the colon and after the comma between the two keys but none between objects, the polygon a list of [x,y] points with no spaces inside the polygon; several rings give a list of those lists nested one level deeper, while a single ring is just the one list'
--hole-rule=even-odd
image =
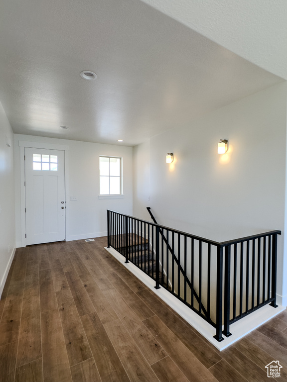
[{"label": "brown floor plank meeting the bottom edge just left of centre", "polygon": [[82,316],[81,320],[102,381],[130,381],[97,313]]}]

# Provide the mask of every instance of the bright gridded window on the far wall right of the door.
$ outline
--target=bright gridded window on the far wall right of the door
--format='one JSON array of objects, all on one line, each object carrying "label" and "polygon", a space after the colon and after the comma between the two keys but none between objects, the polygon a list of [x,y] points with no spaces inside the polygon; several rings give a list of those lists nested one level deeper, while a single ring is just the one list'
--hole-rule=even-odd
[{"label": "bright gridded window on the far wall right of the door", "polygon": [[100,157],[100,195],[122,195],[122,158]]}]

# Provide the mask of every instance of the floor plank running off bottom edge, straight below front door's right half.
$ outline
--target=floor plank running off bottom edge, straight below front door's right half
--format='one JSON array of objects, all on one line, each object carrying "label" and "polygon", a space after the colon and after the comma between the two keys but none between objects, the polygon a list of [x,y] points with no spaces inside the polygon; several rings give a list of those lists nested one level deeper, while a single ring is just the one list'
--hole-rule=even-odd
[{"label": "floor plank running off bottom edge, straight below front door's right half", "polygon": [[71,382],[71,372],[58,309],[41,314],[43,381]]}]

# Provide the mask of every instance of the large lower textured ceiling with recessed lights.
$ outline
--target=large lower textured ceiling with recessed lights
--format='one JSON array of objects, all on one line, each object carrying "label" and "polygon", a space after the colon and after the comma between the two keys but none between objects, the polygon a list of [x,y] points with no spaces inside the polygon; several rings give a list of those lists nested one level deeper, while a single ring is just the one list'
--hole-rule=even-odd
[{"label": "large lower textured ceiling with recessed lights", "polygon": [[0,36],[20,134],[134,146],[282,81],[139,0],[1,0]]}]

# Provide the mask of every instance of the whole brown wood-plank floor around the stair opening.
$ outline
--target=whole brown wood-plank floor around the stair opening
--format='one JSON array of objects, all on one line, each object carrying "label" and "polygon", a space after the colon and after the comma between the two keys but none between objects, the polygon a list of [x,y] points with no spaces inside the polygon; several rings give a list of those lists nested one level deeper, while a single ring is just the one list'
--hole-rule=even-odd
[{"label": "whole brown wood-plank floor around the stair opening", "polygon": [[219,352],[104,246],[16,250],[0,300],[1,382],[262,382],[273,360],[287,381],[286,312]]}]

